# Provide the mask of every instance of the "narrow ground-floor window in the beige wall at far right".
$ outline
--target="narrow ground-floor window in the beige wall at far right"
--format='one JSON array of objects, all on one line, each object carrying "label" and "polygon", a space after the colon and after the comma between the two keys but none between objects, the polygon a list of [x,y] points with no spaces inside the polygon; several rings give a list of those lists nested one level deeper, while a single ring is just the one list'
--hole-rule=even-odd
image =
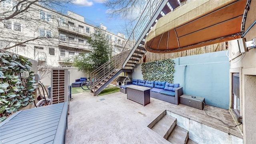
[{"label": "narrow ground-floor window in the beige wall at far right", "polygon": [[232,108],[240,114],[240,82],[239,73],[232,74]]}]

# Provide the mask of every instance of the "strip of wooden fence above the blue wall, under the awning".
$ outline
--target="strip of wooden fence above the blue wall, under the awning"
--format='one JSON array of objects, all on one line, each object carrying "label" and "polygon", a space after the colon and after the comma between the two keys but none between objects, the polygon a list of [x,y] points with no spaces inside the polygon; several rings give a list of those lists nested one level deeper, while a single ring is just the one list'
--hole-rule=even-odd
[{"label": "strip of wooden fence above the blue wall, under the awning", "polygon": [[[194,48],[191,50],[184,50],[181,52],[173,52],[173,53],[165,53],[165,54],[146,52],[145,55],[146,55],[146,62],[152,62],[155,60],[178,58],[178,57],[182,57],[182,56],[192,56],[192,55],[196,55],[196,54],[205,54],[205,53],[209,53],[209,52],[218,52],[218,51],[222,51],[222,50],[228,50],[227,42],[212,44],[209,46],[203,46],[203,47]],[[143,58],[139,61],[139,63],[141,63],[142,60],[143,60]]]}]

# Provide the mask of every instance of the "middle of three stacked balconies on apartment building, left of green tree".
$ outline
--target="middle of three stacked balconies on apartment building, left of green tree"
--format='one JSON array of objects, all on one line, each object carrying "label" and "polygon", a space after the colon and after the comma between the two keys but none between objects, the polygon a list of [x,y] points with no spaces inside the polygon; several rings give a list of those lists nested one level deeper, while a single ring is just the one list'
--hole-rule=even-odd
[{"label": "middle of three stacked balconies on apartment building, left of green tree", "polygon": [[59,41],[59,46],[64,47],[64,48],[73,48],[73,49],[81,49],[81,50],[87,50],[91,51],[90,46],[81,43],[81,42],[76,42],[76,41]]}]

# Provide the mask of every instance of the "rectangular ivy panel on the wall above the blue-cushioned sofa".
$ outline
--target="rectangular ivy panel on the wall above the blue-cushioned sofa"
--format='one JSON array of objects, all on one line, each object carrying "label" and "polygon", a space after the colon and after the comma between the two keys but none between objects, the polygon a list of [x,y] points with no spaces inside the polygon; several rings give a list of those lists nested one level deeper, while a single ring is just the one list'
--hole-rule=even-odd
[{"label": "rectangular ivy panel on the wall above the blue-cushioned sofa", "polygon": [[143,79],[173,83],[174,65],[175,63],[172,59],[142,63],[141,71]]}]

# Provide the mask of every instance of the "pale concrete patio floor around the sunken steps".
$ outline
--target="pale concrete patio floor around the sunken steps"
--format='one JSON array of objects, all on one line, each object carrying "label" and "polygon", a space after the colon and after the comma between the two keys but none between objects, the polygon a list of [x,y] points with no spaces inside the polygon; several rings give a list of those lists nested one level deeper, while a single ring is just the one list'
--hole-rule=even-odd
[{"label": "pale concrete patio floor around the sunken steps", "polygon": [[[142,106],[127,100],[126,94],[121,92],[104,96],[84,92],[72,94],[72,98],[66,144],[170,144],[147,127],[164,110],[242,138],[238,128],[228,127],[210,118],[204,110],[182,104],[177,106],[150,98],[150,104]],[[205,108],[210,116],[235,125],[228,110],[208,105]]]}]

